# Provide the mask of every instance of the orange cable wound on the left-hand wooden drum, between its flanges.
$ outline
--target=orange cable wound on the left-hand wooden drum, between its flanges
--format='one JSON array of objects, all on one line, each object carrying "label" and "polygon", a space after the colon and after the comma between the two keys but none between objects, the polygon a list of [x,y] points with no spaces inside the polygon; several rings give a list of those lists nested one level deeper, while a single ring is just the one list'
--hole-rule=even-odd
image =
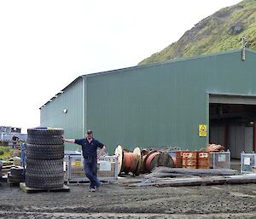
[{"label": "orange cable wound on the left-hand wooden drum, between its flanges", "polygon": [[124,151],[122,170],[125,173],[134,172],[137,169],[139,156],[137,153],[129,153]]}]

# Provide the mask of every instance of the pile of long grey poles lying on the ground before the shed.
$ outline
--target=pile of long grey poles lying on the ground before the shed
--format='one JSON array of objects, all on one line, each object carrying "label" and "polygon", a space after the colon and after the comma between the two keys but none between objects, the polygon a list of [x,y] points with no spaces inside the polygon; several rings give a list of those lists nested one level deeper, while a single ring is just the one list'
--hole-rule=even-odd
[{"label": "pile of long grey poles lying on the ground before the shed", "polygon": [[256,174],[237,175],[236,170],[157,168],[142,182],[128,187],[178,187],[256,183]]}]

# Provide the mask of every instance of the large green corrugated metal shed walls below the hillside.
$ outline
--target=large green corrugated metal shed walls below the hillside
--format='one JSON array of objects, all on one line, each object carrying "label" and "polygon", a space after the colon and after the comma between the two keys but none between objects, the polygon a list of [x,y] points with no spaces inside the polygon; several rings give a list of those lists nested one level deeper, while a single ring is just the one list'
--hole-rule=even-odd
[{"label": "large green corrugated metal shed walls below the hillside", "polygon": [[208,142],[198,126],[209,124],[209,95],[256,95],[255,70],[256,53],[246,49],[241,61],[238,49],[84,75],[40,108],[41,125],[67,138],[94,130],[109,153],[119,144],[198,150]]}]

